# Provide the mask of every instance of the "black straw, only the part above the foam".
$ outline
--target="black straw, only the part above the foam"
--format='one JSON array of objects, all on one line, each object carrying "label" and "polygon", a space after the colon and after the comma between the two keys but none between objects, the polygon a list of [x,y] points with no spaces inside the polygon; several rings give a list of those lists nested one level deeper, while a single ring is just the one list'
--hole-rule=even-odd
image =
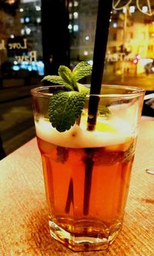
[{"label": "black straw, only the part above the foam", "polygon": [[[99,0],[90,94],[100,94],[101,91],[111,10],[112,0]],[[95,96],[89,98],[88,130],[95,128],[98,104],[99,97]]]}]

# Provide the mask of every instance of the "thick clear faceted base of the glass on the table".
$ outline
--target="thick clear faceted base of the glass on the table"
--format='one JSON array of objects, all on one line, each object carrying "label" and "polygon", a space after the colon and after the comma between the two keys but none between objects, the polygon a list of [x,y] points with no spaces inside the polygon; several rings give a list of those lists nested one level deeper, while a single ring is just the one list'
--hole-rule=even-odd
[{"label": "thick clear faceted base of the glass on the table", "polygon": [[[122,224],[118,223],[112,225],[110,228],[103,225],[102,229],[100,229],[100,224],[98,225],[98,223],[95,224],[94,221],[87,220],[78,222],[75,224],[75,227],[77,226],[80,232],[70,232],[59,227],[59,225],[55,224],[52,220],[49,220],[50,234],[52,237],[62,244],[65,244],[65,246],[72,249],[72,251],[106,250],[109,244],[112,244],[115,240],[115,237],[117,237],[122,228]],[[67,220],[67,227],[69,227],[69,220]],[[67,230],[69,229],[67,228]]]}]

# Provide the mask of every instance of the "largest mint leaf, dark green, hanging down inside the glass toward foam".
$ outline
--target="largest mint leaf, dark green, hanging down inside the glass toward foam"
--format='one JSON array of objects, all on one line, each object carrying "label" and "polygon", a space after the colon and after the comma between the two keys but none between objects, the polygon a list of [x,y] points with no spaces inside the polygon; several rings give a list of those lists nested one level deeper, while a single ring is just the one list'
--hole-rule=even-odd
[{"label": "largest mint leaf, dark green, hanging down inside the glass toward foam", "polygon": [[78,91],[60,91],[49,101],[49,121],[58,131],[66,131],[82,113],[86,95]]}]

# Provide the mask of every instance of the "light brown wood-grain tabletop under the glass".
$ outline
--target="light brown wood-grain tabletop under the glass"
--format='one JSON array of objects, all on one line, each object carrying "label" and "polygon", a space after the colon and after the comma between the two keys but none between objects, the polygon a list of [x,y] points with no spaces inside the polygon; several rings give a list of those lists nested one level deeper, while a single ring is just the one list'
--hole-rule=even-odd
[{"label": "light brown wood-grain tabletop under the glass", "polygon": [[[154,255],[154,120],[142,120],[124,224],[108,251],[95,256]],[[36,139],[0,162],[0,255],[91,256],[75,253],[49,234],[42,163]]]}]

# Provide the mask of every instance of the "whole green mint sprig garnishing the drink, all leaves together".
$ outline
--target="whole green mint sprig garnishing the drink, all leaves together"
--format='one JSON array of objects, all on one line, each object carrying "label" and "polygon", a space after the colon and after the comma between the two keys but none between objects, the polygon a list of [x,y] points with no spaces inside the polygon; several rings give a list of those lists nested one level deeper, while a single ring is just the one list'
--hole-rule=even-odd
[{"label": "whole green mint sprig garnishing the drink, all leaves together", "polygon": [[82,61],[73,70],[62,65],[58,73],[59,76],[46,76],[42,81],[65,86],[66,91],[59,90],[49,100],[49,121],[62,132],[69,130],[82,113],[89,88],[78,81],[92,73],[92,65]]}]

